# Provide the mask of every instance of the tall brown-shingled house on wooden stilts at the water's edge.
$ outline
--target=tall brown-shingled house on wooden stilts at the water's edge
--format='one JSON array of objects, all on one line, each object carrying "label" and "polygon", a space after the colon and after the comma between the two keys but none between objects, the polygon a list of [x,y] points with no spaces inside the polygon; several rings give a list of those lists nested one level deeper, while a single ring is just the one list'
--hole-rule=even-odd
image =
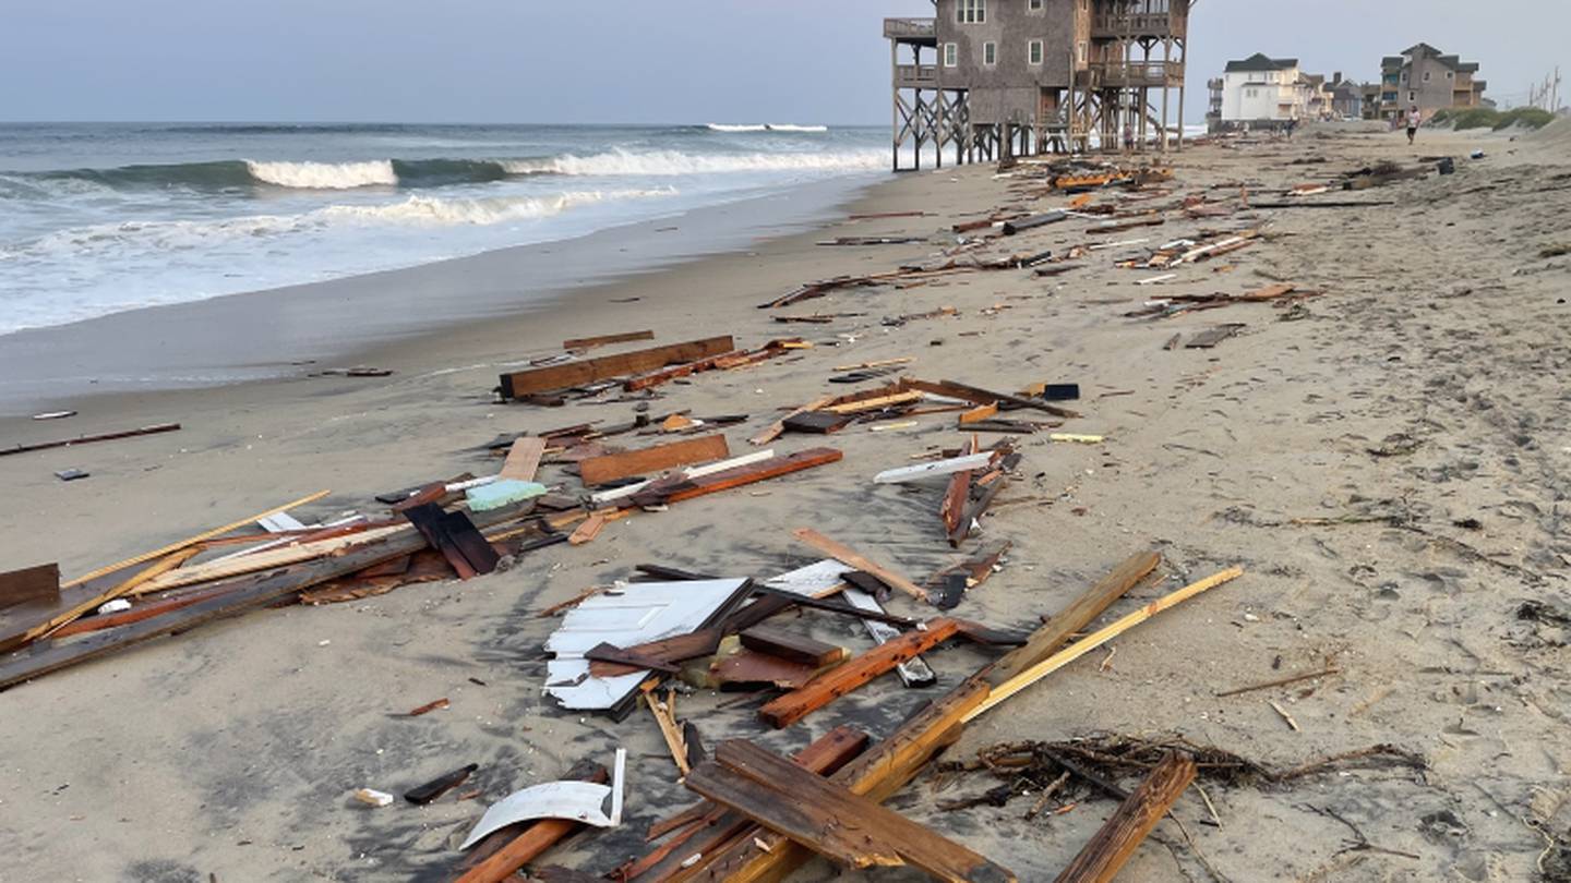
[{"label": "tall brown-shingled house on wooden stilts at the water's edge", "polygon": [[[895,168],[1183,146],[1191,0],[935,0],[886,19]],[[1177,127],[1170,119],[1177,118]]]}]

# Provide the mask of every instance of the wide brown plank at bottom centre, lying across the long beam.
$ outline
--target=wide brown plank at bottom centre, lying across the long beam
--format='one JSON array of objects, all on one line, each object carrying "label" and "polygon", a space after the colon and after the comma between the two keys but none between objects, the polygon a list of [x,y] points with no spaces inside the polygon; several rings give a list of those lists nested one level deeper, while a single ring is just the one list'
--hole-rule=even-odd
[{"label": "wide brown plank at bottom centre, lying across the long beam", "polygon": [[751,742],[720,745],[688,787],[851,867],[910,864],[947,883],[1005,883],[1015,874],[930,828],[831,784]]}]

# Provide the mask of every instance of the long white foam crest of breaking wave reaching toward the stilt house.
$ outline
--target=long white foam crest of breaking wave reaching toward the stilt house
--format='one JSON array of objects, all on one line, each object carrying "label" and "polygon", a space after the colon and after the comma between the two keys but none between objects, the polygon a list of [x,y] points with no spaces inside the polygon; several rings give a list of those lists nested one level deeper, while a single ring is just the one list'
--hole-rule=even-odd
[{"label": "long white foam crest of breaking wave reaching toward the stilt house", "polygon": [[545,160],[503,160],[507,174],[729,174],[743,171],[856,171],[880,170],[883,151],[826,154],[685,154],[680,151],[624,151],[566,154]]}]

